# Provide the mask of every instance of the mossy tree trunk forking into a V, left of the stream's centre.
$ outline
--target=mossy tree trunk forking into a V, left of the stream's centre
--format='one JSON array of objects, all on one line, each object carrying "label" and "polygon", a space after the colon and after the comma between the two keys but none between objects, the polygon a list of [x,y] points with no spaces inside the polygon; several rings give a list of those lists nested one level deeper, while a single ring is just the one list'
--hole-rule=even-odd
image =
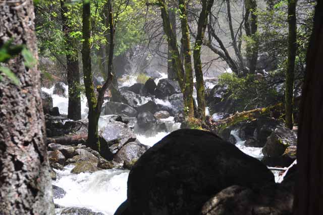
[{"label": "mossy tree trunk forking into a V, left of the stream's centre", "polygon": [[[110,4],[109,1],[107,4]],[[112,9],[112,8],[111,8]],[[91,46],[90,46],[90,38],[91,38],[91,25],[90,25],[90,2],[89,1],[83,1],[83,14],[82,14],[82,33],[83,33],[83,46],[82,46],[82,62],[83,62],[83,74],[84,74],[84,85],[85,85],[85,94],[89,106],[89,112],[88,112],[88,137],[87,137],[87,145],[91,147],[92,149],[96,151],[100,151],[100,142],[99,142],[99,135],[98,135],[98,120],[101,113],[101,107],[103,104],[103,97],[105,90],[109,87],[110,83],[112,82],[113,75],[111,73],[110,68],[112,68],[112,61],[109,62],[108,65],[108,75],[107,79],[104,82],[102,86],[99,86],[96,90],[98,91],[98,96],[96,97],[94,92],[94,85],[92,81],[92,71],[91,71]],[[112,16],[111,22],[113,23],[113,15],[112,11],[111,13],[107,14],[108,16]],[[114,27],[111,28],[111,31],[114,34]],[[112,36],[114,38],[114,35]],[[113,41],[113,40],[112,40]],[[109,56],[110,58],[113,58],[113,47],[112,46],[112,56]],[[110,65],[111,64],[111,65]]]}]

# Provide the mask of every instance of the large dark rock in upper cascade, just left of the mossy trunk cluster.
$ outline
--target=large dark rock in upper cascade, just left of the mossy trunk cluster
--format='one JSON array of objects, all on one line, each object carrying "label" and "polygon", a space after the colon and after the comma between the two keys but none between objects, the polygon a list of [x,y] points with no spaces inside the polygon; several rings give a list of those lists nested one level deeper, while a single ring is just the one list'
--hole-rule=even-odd
[{"label": "large dark rock in upper cascade, just left of the mossy trunk cluster", "polygon": [[164,99],[167,96],[179,93],[181,93],[181,89],[179,87],[178,82],[175,80],[169,80],[167,78],[164,78],[159,80],[154,95],[158,99]]}]

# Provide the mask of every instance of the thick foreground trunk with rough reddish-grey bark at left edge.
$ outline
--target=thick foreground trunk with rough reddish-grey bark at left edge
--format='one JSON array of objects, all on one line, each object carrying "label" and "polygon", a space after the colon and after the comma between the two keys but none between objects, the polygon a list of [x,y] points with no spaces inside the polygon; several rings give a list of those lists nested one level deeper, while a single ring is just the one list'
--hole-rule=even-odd
[{"label": "thick foreground trunk with rough reddish-grey bark at left edge", "polygon": [[[13,38],[37,59],[31,0],[0,4],[0,47]],[[54,214],[45,127],[40,99],[40,73],[27,68],[21,55],[8,64],[20,80],[0,81],[0,214]]]}]

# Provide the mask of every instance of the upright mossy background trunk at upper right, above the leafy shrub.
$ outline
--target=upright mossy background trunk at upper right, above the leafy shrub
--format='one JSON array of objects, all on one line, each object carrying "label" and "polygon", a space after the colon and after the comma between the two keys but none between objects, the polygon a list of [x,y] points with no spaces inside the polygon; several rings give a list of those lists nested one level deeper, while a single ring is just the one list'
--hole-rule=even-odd
[{"label": "upright mossy background trunk at upper right, above the leafy shrub", "polygon": [[246,35],[252,40],[247,42],[246,53],[248,59],[249,73],[254,74],[256,72],[257,59],[258,59],[258,17],[257,17],[257,1],[245,0],[246,14],[244,17],[244,25]]}]

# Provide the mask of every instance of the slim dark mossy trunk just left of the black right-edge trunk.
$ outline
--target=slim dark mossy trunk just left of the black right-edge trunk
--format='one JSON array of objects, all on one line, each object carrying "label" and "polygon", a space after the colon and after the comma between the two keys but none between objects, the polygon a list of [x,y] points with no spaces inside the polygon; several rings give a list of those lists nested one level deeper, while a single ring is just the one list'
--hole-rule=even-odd
[{"label": "slim dark mossy trunk just left of the black right-edge trunk", "polygon": [[286,127],[293,128],[293,89],[294,89],[294,68],[296,57],[296,1],[288,0],[288,58],[286,70],[285,88],[285,112]]}]

